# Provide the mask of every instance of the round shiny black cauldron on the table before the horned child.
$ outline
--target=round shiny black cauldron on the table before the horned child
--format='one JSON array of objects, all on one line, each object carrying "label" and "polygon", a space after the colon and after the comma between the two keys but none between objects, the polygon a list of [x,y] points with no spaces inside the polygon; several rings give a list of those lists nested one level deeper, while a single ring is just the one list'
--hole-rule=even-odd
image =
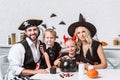
[{"label": "round shiny black cauldron on the table before the horned child", "polygon": [[75,59],[61,59],[60,70],[62,72],[75,72],[77,70]]}]

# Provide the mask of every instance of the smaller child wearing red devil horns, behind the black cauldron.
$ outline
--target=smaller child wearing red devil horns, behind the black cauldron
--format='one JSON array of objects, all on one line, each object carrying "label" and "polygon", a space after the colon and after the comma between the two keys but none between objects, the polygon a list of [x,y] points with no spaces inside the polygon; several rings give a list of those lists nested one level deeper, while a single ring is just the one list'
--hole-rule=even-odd
[{"label": "smaller child wearing red devil horns, behind the black cauldron", "polygon": [[76,39],[75,36],[72,38],[66,38],[64,36],[66,53],[62,53],[62,55],[57,60],[55,60],[54,65],[60,67],[61,60],[65,60],[65,59],[66,60],[75,59],[77,64],[78,54],[76,54],[77,44],[75,42],[75,39]]}]

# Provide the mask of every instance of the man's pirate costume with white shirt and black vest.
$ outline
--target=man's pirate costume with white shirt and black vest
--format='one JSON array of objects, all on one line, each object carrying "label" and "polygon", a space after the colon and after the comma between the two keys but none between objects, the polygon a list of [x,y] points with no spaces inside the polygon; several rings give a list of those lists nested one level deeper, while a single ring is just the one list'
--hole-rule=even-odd
[{"label": "man's pirate costume with white shirt and black vest", "polygon": [[19,76],[23,69],[35,69],[36,63],[41,60],[39,45],[41,41],[37,41],[37,46],[26,38],[20,43],[13,45],[8,54],[9,68],[5,75],[5,80],[29,80],[29,76]]}]

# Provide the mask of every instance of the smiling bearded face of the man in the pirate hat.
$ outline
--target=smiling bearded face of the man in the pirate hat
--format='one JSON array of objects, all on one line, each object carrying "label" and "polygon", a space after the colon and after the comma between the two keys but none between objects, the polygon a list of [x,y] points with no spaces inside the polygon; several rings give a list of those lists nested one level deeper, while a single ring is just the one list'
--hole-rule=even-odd
[{"label": "smiling bearded face of the man in the pirate hat", "polygon": [[25,34],[29,37],[32,41],[36,41],[39,36],[39,28],[36,26],[29,27],[25,30]]}]

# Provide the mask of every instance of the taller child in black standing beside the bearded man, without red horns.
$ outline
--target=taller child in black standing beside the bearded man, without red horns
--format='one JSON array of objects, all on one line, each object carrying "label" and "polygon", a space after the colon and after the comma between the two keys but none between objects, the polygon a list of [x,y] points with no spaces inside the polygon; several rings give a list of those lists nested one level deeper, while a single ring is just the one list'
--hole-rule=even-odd
[{"label": "taller child in black standing beside the bearded man, without red horns", "polygon": [[[44,38],[44,50],[42,50],[42,53],[45,56],[45,59],[42,60],[42,64],[44,65],[44,68],[51,68],[51,66],[54,66],[54,61],[59,57],[61,53],[61,46],[58,42],[55,42],[56,40],[56,32],[53,29],[46,29],[43,35]],[[42,49],[42,48],[40,48]],[[46,62],[46,63],[45,63]]]}]

